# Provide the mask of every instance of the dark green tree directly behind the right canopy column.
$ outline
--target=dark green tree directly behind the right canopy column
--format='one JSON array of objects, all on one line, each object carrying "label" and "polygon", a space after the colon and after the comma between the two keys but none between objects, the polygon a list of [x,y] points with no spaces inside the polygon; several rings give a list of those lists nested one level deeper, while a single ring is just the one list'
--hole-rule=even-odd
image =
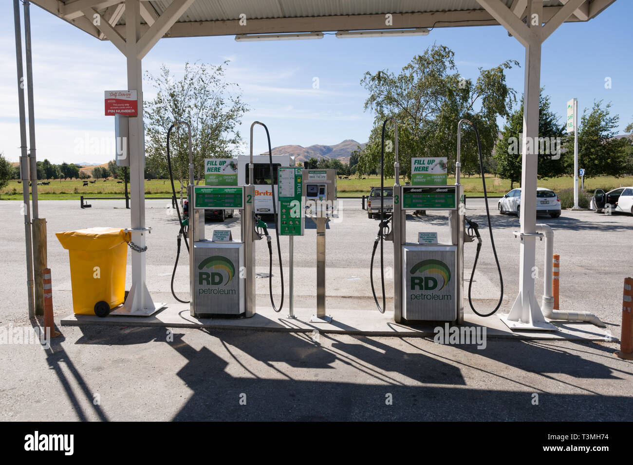
[{"label": "dark green tree directly behind the right canopy column", "polygon": [[[565,141],[565,126],[551,110],[549,96],[543,89],[539,96],[539,139],[534,144],[539,151],[538,178],[555,178],[567,173],[567,166],[561,156],[561,144]],[[510,189],[515,182],[520,184],[523,159],[523,98],[520,106],[506,121],[501,137],[495,147],[494,173],[510,180]]]}]

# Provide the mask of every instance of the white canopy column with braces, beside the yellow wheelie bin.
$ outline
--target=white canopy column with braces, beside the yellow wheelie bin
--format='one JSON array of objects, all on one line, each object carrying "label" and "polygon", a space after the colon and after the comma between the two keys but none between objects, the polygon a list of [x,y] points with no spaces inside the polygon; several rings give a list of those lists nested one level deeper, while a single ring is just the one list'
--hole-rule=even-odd
[{"label": "white canopy column with braces, beside the yellow wheelie bin", "polygon": [[[153,302],[146,284],[146,238],[151,228],[147,228],[145,225],[145,132],[141,61],[193,2],[194,0],[174,0],[163,12],[163,15],[156,16],[153,10],[149,12],[146,6],[141,6],[141,0],[125,0],[125,38],[105,18],[96,25],[101,34],[125,55],[127,59],[127,90],[136,90],[138,99],[138,116],[128,118],[128,156],[130,157],[130,197],[132,200],[130,206],[131,228],[128,231],[134,245],[130,252],[132,254],[132,287],[127,299],[125,299],[123,309],[113,311],[111,314],[151,315],[165,306],[165,304]],[[110,6],[113,3],[116,2],[102,2],[102,6]],[[97,12],[93,8],[87,7],[82,10],[82,13],[87,18],[92,19]],[[142,34],[141,18],[148,15],[151,15],[152,24]]]}]

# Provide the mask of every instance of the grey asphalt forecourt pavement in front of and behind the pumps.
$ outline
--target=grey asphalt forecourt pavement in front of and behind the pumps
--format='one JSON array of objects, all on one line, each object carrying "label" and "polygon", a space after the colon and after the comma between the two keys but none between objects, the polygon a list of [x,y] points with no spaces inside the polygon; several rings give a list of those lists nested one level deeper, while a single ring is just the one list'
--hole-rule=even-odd
[{"label": "grey asphalt forecourt pavement in front of and behind the pumps", "polygon": [[[122,201],[41,201],[47,220],[48,265],[53,274],[57,321],[72,313],[68,252],[55,232],[92,226],[130,226]],[[516,216],[500,216],[490,200],[495,244],[504,279],[500,311],[518,292],[520,243]],[[147,284],[157,302],[175,302],[169,290],[178,223],[168,201],[147,201]],[[486,225],[482,199],[468,199],[467,216]],[[24,227],[19,202],[0,202],[0,336],[2,328],[30,326],[27,318]],[[442,214],[408,217],[407,237],[437,232],[448,239]],[[539,218],[555,230],[561,256],[561,309],[592,311],[620,337],[622,283],[632,275],[633,217],[563,211]],[[329,224],[327,306],[375,311],[368,282],[377,220],[360,199],[341,201]],[[239,215],[214,228],[239,237]],[[473,304],[486,310],[498,299],[499,282],[488,232],[473,282]],[[275,240],[275,239],[273,239]],[[282,238],[284,278],[288,239]],[[544,243],[537,242],[536,264]],[[470,277],[475,245],[465,247]],[[314,306],[315,229],[294,240],[295,304]],[[385,242],[385,266],[392,244]],[[257,271],[268,271],[265,242],[257,245]],[[279,301],[279,271],[273,283]],[[541,268],[539,268],[541,270]],[[376,271],[379,271],[376,268]],[[386,280],[387,296],[392,295]],[[128,286],[130,266],[128,260]],[[466,283],[467,284],[467,283]],[[188,298],[187,254],[183,249],[175,290]],[[258,278],[258,300],[268,299],[268,281]],[[542,272],[536,296],[542,294]],[[286,297],[287,298],[287,297]],[[467,313],[470,308],[467,306]],[[492,316],[490,318],[496,318]],[[614,342],[489,340],[473,345],[434,344],[429,338],[352,337],[166,328],[61,327],[51,349],[38,344],[0,344],[0,418],[185,420],[185,419],[443,419],[443,420],[631,420],[633,363],[613,356]],[[1,339],[1,338],[0,338]],[[42,395],[42,393],[45,393]],[[537,394],[538,403],[534,403]],[[385,398],[391,395],[391,405]],[[98,397],[99,402],[94,402]],[[241,402],[246,398],[246,404]],[[46,402],[46,408],[39,404]]]}]

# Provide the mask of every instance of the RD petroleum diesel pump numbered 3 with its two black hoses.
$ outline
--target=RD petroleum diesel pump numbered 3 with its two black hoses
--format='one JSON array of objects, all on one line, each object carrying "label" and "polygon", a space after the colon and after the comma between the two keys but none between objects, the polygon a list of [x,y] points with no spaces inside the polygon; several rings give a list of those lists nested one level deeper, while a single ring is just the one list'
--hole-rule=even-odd
[{"label": "RD petroleum diesel pump numbered 3 with its two black hoses", "polygon": [[[384,214],[382,208],[382,194],[384,193],[384,133],[385,125],[392,121],[395,125],[395,163],[394,171],[396,182],[393,188],[393,212],[391,216]],[[482,245],[479,234],[479,225],[475,221],[466,218],[463,204],[463,185],[460,184],[461,169],[461,125],[468,123],[475,130],[477,149],[479,151],[480,172],[484,183],[484,199],[486,200],[486,214],[490,231],[492,251],[499,271],[501,282],[501,295],[496,308],[488,314],[478,313],[472,304],[472,281],[477,267],[477,259]],[[477,239],[477,252],[475,263],[468,285],[468,301],[470,307],[480,316],[494,314],[503,299],[503,276],[497,252],[494,247],[490,213],[487,204],[486,179],[484,178],[483,161],[477,128],[468,120],[460,120],[458,123],[458,146],[455,163],[454,185],[406,185],[399,183],[398,161],[398,122],[389,118],[382,125],[382,146],[380,153],[381,176],[381,208],[379,232],[373,244],[370,282],[373,298],[381,313],[385,311],[384,292],[384,257],[383,242],[391,240],[394,244],[394,320],[401,323],[408,321],[451,321],[457,324],[463,323],[463,245]],[[418,242],[406,240],[406,212],[415,210],[436,210],[448,212],[448,226],[450,240],[446,244],[438,244],[435,240],[418,234]],[[468,224],[468,232],[465,231]],[[380,280],[382,283],[382,307],[376,296],[373,283],[373,261],[377,246],[380,244]]]}]

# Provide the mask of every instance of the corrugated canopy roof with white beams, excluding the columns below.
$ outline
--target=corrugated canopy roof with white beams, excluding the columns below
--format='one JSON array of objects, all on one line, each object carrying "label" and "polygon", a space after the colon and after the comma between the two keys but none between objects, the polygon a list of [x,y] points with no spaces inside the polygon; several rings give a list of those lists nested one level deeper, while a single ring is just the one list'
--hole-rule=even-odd
[{"label": "corrugated canopy roof with white beams, excluding the columns below", "polygon": [[[584,1],[565,22],[588,21],[613,1]],[[527,0],[496,0],[494,3],[497,2],[518,18],[525,16]],[[34,0],[32,3],[94,37],[107,40],[93,24],[92,16],[98,13],[125,37],[123,0]],[[543,22],[548,22],[566,3],[567,0],[542,1]],[[141,34],[160,25],[161,20],[167,23],[168,17],[177,15],[178,19],[161,37],[500,24],[477,0],[142,0],[140,10]],[[92,14],[86,17],[86,12]],[[392,15],[391,25],[385,25],[387,14]]]}]

